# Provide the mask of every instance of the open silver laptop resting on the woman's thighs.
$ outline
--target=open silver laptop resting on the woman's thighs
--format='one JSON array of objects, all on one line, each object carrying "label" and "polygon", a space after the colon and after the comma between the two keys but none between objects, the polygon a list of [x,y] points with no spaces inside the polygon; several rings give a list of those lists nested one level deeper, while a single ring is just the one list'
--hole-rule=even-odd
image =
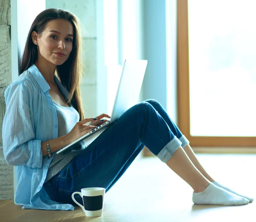
[{"label": "open silver laptop resting on the woman's thighs", "polygon": [[89,146],[126,110],[137,104],[147,63],[147,60],[125,60],[110,120],[91,130],[73,143],[63,147],[61,150],[58,150],[56,154],[61,153],[64,150],[68,151],[72,149],[76,143],[81,141],[85,147]]}]

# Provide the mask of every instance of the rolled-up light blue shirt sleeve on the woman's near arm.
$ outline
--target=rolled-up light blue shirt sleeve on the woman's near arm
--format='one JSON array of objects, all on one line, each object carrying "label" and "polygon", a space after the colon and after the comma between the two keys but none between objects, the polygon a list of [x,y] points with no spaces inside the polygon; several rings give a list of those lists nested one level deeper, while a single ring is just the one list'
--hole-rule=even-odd
[{"label": "rolled-up light blue shirt sleeve on the woman's near arm", "polygon": [[13,83],[5,91],[6,114],[3,119],[3,154],[7,164],[42,167],[41,140],[35,139],[28,89]]}]

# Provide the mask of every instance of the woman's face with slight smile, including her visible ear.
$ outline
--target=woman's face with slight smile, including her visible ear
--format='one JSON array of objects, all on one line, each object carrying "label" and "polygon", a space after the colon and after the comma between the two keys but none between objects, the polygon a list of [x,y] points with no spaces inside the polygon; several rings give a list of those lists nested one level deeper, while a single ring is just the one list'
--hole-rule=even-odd
[{"label": "woman's face with slight smile, including her visible ear", "polygon": [[55,64],[63,64],[72,51],[73,26],[64,19],[50,20],[41,35],[32,32],[33,42],[38,46],[39,57]]}]

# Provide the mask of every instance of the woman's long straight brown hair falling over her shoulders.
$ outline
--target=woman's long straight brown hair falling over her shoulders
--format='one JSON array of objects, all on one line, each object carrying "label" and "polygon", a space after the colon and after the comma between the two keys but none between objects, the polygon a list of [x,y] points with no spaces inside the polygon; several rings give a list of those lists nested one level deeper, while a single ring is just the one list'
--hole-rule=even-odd
[{"label": "woman's long straight brown hair falling over her shoulders", "polygon": [[84,110],[81,101],[80,82],[83,72],[82,63],[82,37],[80,32],[79,19],[72,13],[63,9],[46,9],[35,18],[29,30],[25,49],[21,59],[20,73],[32,66],[38,58],[37,46],[32,41],[32,32],[39,35],[44,31],[50,20],[64,19],[73,25],[73,48],[70,55],[62,65],[57,66],[56,72],[61,84],[70,93],[67,103],[71,102],[73,107],[79,112],[80,121],[84,119]]}]

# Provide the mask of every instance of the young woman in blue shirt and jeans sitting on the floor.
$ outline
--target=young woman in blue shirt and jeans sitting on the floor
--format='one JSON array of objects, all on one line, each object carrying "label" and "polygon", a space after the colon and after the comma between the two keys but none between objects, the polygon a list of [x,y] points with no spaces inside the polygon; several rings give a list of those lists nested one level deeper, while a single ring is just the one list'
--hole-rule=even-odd
[{"label": "young woman in blue shirt and jeans sitting on the floor", "polygon": [[55,155],[106,121],[102,118],[110,118],[102,114],[84,119],[81,34],[74,14],[62,9],[38,14],[26,40],[21,73],[5,92],[3,151],[6,162],[16,166],[15,204],[23,209],[73,210],[73,192],[83,187],[108,191],[144,146],[193,188],[195,204],[253,201],[207,174],[189,141],[155,100],[131,107],[86,149],[81,144]]}]

